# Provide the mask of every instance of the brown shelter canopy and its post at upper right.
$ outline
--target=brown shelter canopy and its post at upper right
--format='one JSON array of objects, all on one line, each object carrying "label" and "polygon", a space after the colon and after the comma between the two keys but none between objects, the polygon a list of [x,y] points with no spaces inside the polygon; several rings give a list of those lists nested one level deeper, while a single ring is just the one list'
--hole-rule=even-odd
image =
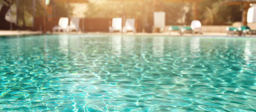
[{"label": "brown shelter canopy and its post at upper right", "polygon": [[243,6],[242,26],[247,26],[248,9],[250,8],[250,4],[256,4],[256,0],[226,0],[222,4],[242,5]]}]

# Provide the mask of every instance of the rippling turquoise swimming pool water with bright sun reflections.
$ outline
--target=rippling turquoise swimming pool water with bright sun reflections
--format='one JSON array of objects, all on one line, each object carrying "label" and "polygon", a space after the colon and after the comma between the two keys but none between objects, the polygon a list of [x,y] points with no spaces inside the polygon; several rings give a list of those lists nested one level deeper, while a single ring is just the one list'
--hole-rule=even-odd
[{"label": "rippling turquoise swimming pool water with bright sun reflections", "polygon": [[255,38],[2,36],[0,65],[0,111],[256,111]]}]

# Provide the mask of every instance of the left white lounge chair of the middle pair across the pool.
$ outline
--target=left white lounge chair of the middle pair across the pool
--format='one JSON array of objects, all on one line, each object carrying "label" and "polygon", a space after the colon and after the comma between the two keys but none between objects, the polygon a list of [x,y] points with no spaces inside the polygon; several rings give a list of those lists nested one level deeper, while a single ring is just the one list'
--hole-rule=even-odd
[{"label": "left white lounge chair of the middle pair across the pool", "polygon": [[122,29],[122,18],[113,18],[112,26],[109,27],[109,32],[119,31],[121,33]]}]

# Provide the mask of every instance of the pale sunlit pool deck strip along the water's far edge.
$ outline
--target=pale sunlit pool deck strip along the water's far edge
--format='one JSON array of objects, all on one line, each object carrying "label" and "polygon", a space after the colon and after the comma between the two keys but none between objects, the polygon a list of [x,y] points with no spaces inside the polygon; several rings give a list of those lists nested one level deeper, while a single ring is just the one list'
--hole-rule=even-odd
[{"label": "pale sunlit pool deck strip along the water's far edge", "polygon": [[[6,35],[40,35],[42,34],[41,31],[8,31],[8,30],[0,30],[0,36]],[[172,32],[169,35],[168,32],[164,33],[107,33],[107,32],[53,32],[52,34],[88,34],[88,35],[124,35],[124,36],[180,36],[178,32]],[[191,33],[186,33],[183,36],[227,36],[226,33],[206,33],[204,32],[203,35],[196,34],[193,35]],[[250,36],[250,35],[246,35]],[[234,35],[234,37],[238,37],[238,35]],[[252,35],[252,37],[256,37],[256,35]]]}]

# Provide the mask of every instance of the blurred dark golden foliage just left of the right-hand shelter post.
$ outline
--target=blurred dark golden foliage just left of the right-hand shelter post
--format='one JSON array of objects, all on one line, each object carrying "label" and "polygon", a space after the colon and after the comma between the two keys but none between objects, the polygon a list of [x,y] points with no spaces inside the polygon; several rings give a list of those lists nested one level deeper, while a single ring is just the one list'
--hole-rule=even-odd
[{"label": "blurred dark golden foliage just left of the right-hand shelter post", "polygon": [[224,5],[223,0],[205,0],[200,3],[200,20],[204,25],[228,25],[241,21],[242,10],[239,5]]}]

